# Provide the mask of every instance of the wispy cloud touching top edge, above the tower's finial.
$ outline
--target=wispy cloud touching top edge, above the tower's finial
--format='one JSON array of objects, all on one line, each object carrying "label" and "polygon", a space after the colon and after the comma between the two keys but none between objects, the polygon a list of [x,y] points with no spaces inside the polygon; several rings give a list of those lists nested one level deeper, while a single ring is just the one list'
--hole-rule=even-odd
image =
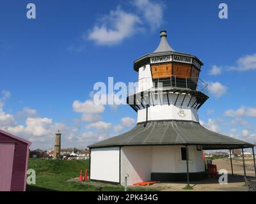
[{"label": "wispy cloud touching top edge, above the tower's finial", "polygon": [[163,24],[164,5],[162,3],[149,0],[134,0],[133,3],[143,13],[143,18],[148,22],[151,29],[157,29]]}]

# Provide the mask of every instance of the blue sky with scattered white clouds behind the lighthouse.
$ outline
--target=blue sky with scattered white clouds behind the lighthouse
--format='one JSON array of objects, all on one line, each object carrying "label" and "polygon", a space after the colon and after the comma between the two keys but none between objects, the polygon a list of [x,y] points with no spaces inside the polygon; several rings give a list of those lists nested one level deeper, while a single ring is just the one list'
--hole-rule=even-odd
[{"label": "blue sky with scattered white clouds behind the lighthouse", "polygon": [[[28,3],[36,19],[26,18]],[[256,3],[225,1],[1,1],[0,128],[49,149],[60,128],[63,147],[131,129],[127,105],[94,106],[96,82],[133,82],[134,59],[153,52],[159,31],[174,50],[204,62],[209,100],[200,108],[209,129],[256,141]],[[74,107],[74,101],[77,101]]]}]

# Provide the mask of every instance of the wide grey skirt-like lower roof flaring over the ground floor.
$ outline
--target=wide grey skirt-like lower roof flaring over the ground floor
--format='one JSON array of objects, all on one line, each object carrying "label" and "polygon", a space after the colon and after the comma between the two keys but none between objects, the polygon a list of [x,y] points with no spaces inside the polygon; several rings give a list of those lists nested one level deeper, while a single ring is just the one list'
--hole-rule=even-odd
[{"label": "wide grey skirt-like lower roof flaring over the ground floor", "polygon": [[129,145],[202,145],[203,149],[239,149],[252,143],[214,133],[199,123],[184,120],[152,120],[138,123],[122,135],[103,140],[89,148]]}]

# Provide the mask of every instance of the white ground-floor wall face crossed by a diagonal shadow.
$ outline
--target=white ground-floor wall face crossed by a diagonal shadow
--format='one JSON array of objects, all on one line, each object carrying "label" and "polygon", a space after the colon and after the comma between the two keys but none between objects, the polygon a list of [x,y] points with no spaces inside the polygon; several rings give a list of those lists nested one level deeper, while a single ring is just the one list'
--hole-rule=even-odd
[{"label": "white ground-floor wall face crossed by a diagonal shadow", "polygon": [[125,174],[128,173],[127,184],[150,180],[152,166],[152,147],[121,148],[121,184],[124,185]]}]

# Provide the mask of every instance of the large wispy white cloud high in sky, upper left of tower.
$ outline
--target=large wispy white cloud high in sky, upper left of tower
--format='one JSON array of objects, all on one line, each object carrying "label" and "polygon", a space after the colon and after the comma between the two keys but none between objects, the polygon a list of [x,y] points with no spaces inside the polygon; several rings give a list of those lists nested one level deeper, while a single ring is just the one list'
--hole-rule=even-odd
[{"label": "large wispy white cloud high in sky, upper left of tower", "polygon": [[105,15],[100,25],[95,25],[88,36],[84,38],[95,41],[99,45],[115,45],[129,38],[138,31],[140,18],[134,13],[127,13],[118,7]]}]

